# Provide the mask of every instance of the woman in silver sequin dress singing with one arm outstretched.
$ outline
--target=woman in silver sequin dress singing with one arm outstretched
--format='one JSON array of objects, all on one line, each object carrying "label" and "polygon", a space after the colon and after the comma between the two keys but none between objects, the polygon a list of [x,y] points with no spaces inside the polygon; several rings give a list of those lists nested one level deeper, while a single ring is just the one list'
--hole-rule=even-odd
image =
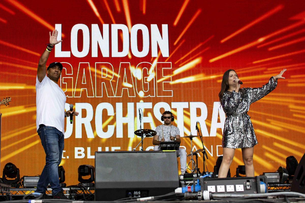
[{"label": "woman in silver sequin dress singing with one arm outstretched", "polygon": [[251,103],[263,98],[275,89],[278,79],[285,79],[282,77],[285,71],[286,69],[271,77],[263,87],[242,89],[240,89],[239,78],[234,70],[227,70],[224,73],[219,99],[227,117],[222,136],[223,159],[218,173],[219,178],[227,177],[237,148],[242,149],[246,176],[254,177],[253,149],[254,145],[257,145],[257,139],[247,112]]}]

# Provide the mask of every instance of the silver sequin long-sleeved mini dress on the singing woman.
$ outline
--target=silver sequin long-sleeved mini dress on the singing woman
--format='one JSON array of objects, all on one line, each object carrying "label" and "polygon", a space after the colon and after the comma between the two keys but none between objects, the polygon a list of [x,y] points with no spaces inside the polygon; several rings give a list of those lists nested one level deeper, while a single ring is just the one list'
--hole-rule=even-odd
[{"label": "silver sequin long-sleeved mini dress on the singing woman", "polygon": [[221,100],[226,120],[222,136],[222,147],[249,148],[257,145],[257,139],[247,114],[250,104],[263,98],[275,89],[278,82],[273,77],[260,88],[242,88],[238,93],[225,91]]}]

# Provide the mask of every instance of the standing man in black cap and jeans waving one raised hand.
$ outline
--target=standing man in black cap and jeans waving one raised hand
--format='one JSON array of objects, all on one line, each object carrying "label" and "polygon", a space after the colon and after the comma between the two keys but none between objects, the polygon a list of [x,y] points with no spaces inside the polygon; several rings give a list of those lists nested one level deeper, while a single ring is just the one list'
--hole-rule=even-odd
[{"label": "standing man in black cap and jeans waving one raised hand", "polygon": [[[63,65],[59,62],[51,63],[46,71],[46,63],[57,41],[58,31],[50,32],[50,44],[41,55],[37,68],[36,78],[36,125],[37,133],[45,150],[45,167],[41,172],[36,192],[42,193],[42,198],[48,198],[45,194],[48,184],[51,185],[54,199],[67,199],[63,194],[63,188],[59,184],[58,166],[64,148],[64,119],[70,114],[77,116],[73,111],[65,112],[66,95],[58,85]],[[48,75],[46,75],[46,73]]]}]

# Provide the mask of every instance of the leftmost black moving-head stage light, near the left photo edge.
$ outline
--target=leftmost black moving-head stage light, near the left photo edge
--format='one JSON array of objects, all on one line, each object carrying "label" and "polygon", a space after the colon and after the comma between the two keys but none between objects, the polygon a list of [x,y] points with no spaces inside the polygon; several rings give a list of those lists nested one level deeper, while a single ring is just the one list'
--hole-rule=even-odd
[{"label": "leftmost black moving-head stage light, near the left photo edge", "polygon": [[3,168],[2,179],[3,182],[12,184],[12,187],[18,187],[17,183],[20,181],[19,168],[17,168],[15,164],[10,162],[5,164]]}]

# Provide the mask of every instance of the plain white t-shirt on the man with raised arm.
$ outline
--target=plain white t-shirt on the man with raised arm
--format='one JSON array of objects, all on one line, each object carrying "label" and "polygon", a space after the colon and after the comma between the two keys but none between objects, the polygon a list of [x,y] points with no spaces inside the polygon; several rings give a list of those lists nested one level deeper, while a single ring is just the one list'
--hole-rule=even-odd
[{"label": "plain white t-shirt on the man with raised arm", "polygon": [[47,76],[39,82],[36,77],[36,128],[40,124],[55,127],[65,133],[66,95],[57,83]]}]

